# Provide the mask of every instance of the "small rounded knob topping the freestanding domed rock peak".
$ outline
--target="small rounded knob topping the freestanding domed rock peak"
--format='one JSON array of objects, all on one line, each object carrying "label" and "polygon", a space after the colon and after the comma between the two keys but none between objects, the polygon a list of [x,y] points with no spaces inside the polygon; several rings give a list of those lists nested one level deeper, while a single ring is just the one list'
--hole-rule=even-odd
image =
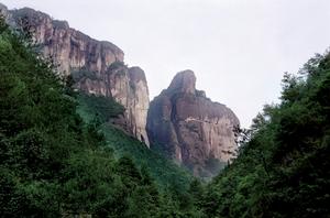
[{"label": "small rounded knob topping the freestanding domed rock peak", "polygon": [[196,76],[193,70],[187,69],[179,72],[173,78],[168,91],[195,94],[196,90]]}]

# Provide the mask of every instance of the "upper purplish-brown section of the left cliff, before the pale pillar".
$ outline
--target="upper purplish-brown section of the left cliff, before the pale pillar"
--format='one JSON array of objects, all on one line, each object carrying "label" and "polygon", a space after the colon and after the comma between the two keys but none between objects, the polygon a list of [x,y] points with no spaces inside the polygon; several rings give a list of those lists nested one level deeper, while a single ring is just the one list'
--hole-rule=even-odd
[{"label": "upper purplish-brown section of the left cliff, before the pale pillar", "polygon": [[50,15],[23,8],[10,11],[19,25],[29,25],[37,44],[43,45],[46,57],[59,64],[61,72],[72,69],[101,73],[113,62],[123,62],[123,52],[110,42],[96,41],[69,28],[66,21],[53,20]]}]

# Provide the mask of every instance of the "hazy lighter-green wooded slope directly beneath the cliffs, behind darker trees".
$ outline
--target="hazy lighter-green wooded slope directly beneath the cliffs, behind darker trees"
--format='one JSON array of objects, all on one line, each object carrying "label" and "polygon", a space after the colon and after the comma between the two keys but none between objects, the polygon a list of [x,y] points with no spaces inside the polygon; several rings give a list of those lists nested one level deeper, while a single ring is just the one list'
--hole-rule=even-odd
[{"label": "hazy lighter-green wooded slope directly beneath the cliffs, behind darker trees", "polygon": [[122,106],[101,96],[79,94],[77,99],[78,113],[86,122],[97,121],[100,124],[107,145],[113,150],[117,157],[128,155],[140,168],[146,167],[163,189],[170,187],[173,192],[177,193],[188,189],[193,178],[188,171],[180,168],[161,153],[150,150],[135,138],[129,137],[107,122],[111,116],[116,117],[122,113]]}]

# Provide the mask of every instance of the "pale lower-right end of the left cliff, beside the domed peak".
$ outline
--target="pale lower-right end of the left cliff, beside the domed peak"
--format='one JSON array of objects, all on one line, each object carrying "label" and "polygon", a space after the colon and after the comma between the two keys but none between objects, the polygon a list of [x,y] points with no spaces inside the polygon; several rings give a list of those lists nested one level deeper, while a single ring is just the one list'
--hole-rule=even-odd
[{"label": "pale lower-right end of the left cliff, beside the domed peak", "polygon": [[101,79],[82,76],[77,88],[89,94],[111,96],[124,106],[124,117],[113,119],[112,123],[150,145],[145,130],[148,89],[145,74],[140,67],[127,67],[117,62],[110,65]]}]

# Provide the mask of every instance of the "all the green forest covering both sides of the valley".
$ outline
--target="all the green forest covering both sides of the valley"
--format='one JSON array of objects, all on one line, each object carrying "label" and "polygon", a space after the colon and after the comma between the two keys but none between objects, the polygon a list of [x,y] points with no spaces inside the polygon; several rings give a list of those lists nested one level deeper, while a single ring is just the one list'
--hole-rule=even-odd
[{"label": "all the green forest covering both sides of the valley", "polygon": [[239,157],[207,184],[56,75],[0,21],[0,217],[330,217],[329,53],[285,74],[280,103],[237,130]]}]

